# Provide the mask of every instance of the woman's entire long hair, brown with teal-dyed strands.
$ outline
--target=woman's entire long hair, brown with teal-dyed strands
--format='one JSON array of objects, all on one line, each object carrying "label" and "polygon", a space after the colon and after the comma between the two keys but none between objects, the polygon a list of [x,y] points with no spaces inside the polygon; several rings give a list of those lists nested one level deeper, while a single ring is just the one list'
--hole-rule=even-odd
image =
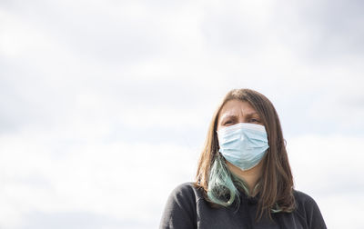
[{"label": "woman's entire long hair, brown with teal-dyed strands", "polygon": [[222,107],[230,100],[248,102],[260,116],[267,134],[269,148],[262,159],[262,172],[256,186],[259,194],[257,219],[264,214],[291,212],[295,208],[293,177],[288,163],[285,140],[278,114],[268,98],[250,89],[234,89],[227,93],[213,115],[207,139],[197,164],[196,183],[211,204],[228,206],[239,197],[238,189],[248,193],[246,184],[227,169],[218,153],[217,121]]}]

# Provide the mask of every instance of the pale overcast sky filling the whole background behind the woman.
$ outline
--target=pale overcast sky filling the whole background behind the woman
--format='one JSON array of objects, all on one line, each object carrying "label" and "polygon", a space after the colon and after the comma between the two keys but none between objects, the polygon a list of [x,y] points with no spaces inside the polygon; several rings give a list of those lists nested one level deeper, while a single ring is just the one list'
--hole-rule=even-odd
[{"label": "pale overcast sky filling the whole background behind the woman", "polygon": [[0,228],[156,228],[233,88],[275,105],[328,227],[364,228],[363,7],[2,0]]}]

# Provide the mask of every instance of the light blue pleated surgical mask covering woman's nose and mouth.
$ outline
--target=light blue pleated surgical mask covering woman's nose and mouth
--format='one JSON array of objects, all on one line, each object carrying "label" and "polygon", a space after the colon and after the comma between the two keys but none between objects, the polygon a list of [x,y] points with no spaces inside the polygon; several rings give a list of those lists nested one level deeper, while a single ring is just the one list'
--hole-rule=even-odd
[{"label": "light blue pleated surgical mask covering woman's nose and mouth", "polygon": [[230,125],[217,131],[217,137],[218,152],[241,170],[256,166],[269,148],[266,128],[260,124]]}]

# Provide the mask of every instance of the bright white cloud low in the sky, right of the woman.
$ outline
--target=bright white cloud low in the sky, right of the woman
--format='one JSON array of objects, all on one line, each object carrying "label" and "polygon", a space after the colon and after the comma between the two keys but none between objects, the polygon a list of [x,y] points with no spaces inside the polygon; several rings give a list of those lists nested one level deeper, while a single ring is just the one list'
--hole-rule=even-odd
[{"label": "bright white cloud low in the sky, right of the woman", "polygon": [[364,207],[363,137],[310,134],[287,141],[296,186],[314,197],[328,228],[350,222],[350,228],[359,229]]}]

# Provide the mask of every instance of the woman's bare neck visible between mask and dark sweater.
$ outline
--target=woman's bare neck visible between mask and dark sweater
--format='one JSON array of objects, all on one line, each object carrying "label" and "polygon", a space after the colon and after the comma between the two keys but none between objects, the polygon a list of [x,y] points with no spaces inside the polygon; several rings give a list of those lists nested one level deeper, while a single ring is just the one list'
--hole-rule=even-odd
[{"label": "woman's bare neck visible between mask and dark sweater", "polygon": [[256,193],[253,193],[253,191],[261,175],[262,162],[260,162],[253,168],[245,171],[241,170],[240,168],[229,162],[227,162],[227,168],[228,170],[230,170],[231,173],[235,174],[236,176],[238,176],[238,178],[242,179],[245,183],[248,184],[249,195],[256,195]]}]

